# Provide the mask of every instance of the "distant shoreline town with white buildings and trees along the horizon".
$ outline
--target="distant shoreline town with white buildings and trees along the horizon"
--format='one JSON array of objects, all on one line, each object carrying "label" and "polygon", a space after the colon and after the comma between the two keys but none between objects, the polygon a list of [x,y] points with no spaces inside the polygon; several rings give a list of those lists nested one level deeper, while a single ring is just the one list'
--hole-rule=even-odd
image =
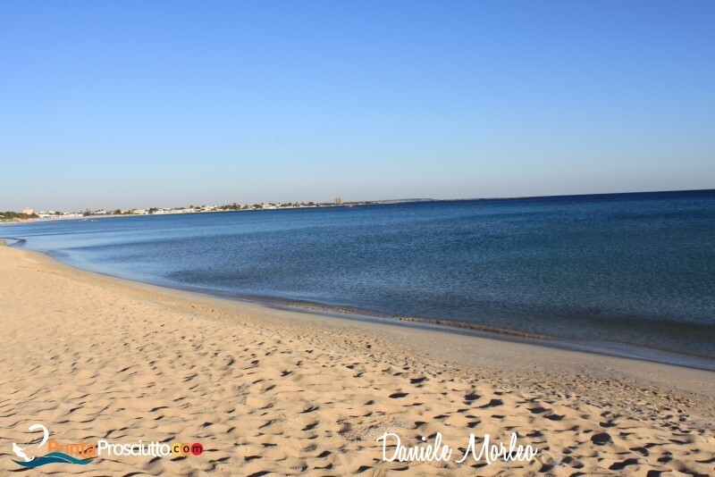
[{"label": "distant shoreline town with white buildings and trees along the horizon", "polygon": [[229,205],[189,205],[188,207],[150,207],[147,209],[115,209],[115,210],[89,210],[83,212],[61,212],[61,211],[36,211],[30,207],[22,209],[21,212],[0,212],[0,223],[11,222],[36,222],[50,220],[86,219],[120,215],[159,215],[166,213],[208,213],[208,212],[229,212],[229,211],[252,211],[252,210],[273,210],[273,209],[298,209],[307,207],[352,207],[355,205],[377,205],[377,204],[400,204],[404,202],[423,202],[433,199],[396,199],[396,200],[376,200],[365,202],[345,202],[342,197],[335,197],[332,202],[271,202],[260,204],[240,205],[232,203]]}]

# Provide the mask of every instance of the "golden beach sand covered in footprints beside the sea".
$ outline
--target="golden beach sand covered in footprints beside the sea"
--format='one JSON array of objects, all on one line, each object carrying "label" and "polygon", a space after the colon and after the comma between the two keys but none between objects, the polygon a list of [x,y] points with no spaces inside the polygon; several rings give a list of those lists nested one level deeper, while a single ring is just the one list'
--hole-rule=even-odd
[{"label": "golden beach sand covered in footprints beside the sea", "polygon": [[[0,247],[0,473],[63,443],[199,442],[201,456],[48,464],[86,475],[715,473],[715,373],[162,289]],[[383,462],[436,434],[450,462]],[[470,433],[539,449],[455,461]],[[41,455],[43,452],[38,453]]]}]

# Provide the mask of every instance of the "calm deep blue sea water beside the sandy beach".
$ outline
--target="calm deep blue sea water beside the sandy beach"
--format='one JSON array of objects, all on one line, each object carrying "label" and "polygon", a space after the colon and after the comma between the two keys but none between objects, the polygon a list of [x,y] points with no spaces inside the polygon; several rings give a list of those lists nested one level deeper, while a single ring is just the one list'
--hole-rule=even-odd
[{"label": "calm deep blue sea water beside the sandy beach", "polygon": [[46,222],[0,236],[161,285],[715,358],[715,190]]}]

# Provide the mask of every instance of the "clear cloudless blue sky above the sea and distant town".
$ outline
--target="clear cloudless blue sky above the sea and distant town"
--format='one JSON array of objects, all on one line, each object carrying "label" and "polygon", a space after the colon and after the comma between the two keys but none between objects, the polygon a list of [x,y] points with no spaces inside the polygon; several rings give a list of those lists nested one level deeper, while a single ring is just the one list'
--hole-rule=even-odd
[{"label": "clear cloudless blue sky above the sea and distant town", "polygon": [[0,3],[0,210],[715,188],[712,1]]}]

